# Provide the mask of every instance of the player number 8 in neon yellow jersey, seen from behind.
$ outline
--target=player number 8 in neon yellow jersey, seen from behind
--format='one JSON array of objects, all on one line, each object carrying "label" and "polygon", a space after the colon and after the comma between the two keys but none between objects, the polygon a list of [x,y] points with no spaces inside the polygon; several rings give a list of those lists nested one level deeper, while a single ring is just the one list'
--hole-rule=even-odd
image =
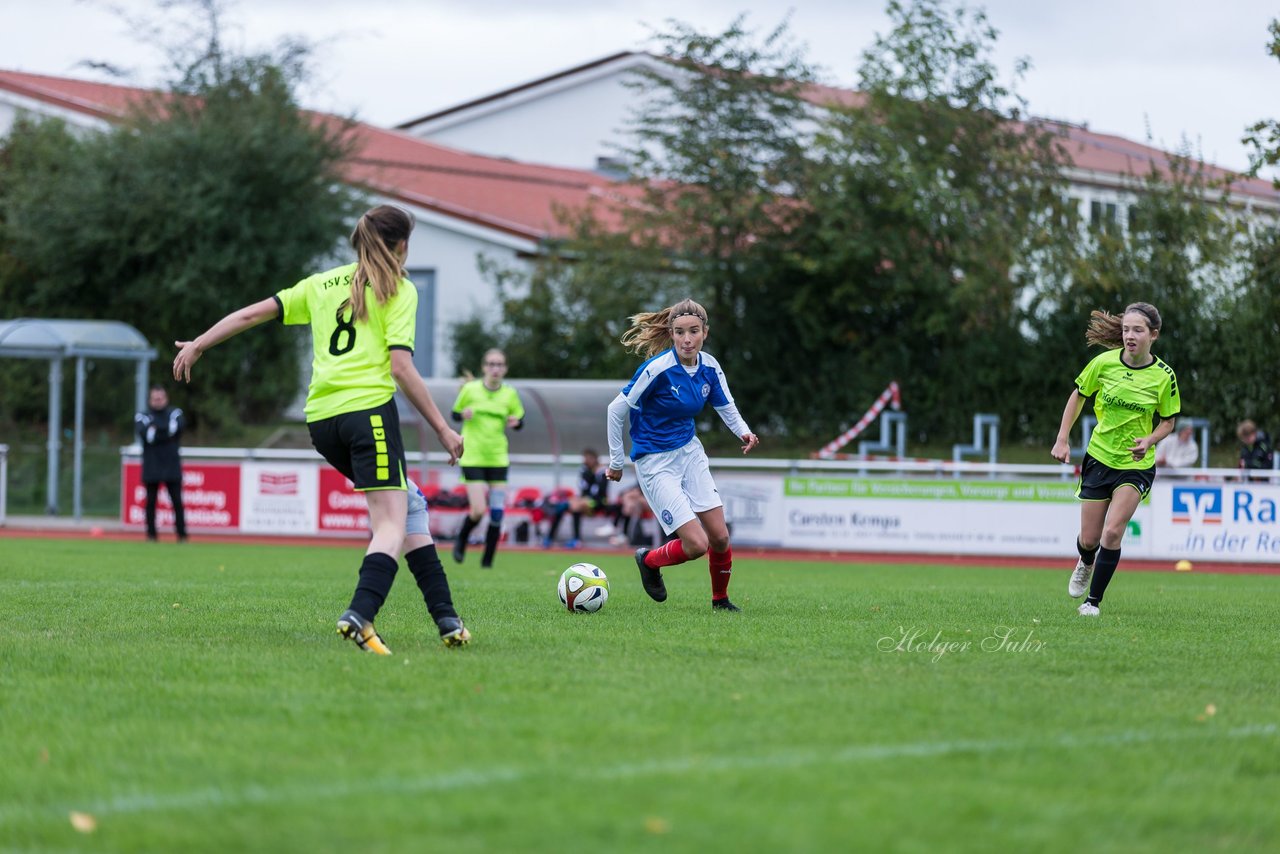
[{"label": "player number 8 in neon yellow jersey, seen from behind", "polygon": [[189,382],[204,352],[232,335],[274,318],[310,324],[306,417],[311,443],[364,493],[371,529],[356,593],[338,618],[338,634],[384,656],[390,649],[374,630],[374,617],[390,592],[402,549],[444,644],[458,647],[471,638],[453,609],[426,526],[426,503],[404,472],[397,385],[435,429],[449,463],[462,453],[462,438],[440,415],[413,366],[417,289],[403,270],[412,230],[413,219],[403,210],[374,207],[351,236],[357,262],[317,273],[234,311],[195,341],[174,342],[178,356],[173,360],[174,378]]}]

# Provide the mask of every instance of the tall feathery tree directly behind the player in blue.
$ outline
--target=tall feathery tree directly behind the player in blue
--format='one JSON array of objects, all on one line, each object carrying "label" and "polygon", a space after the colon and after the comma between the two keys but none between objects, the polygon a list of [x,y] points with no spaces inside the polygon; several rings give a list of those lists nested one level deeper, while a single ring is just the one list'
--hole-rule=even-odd
[{"label": "tall feathery tree directly behind the player in blue", "polygon": [[[641,106],[621,151],[623,204],[572,211],[572,237],[530,273],[494,270],[512,364],[549,376],[627,376],[626,319],[692,296],[710,314],[708,348],[750,392],[772,277],[755,247],[792,227],[805,174],[813,79],[786,24],[756,42],[739,18],[719,35],[680,22],[654,37],[660,70],[636,76]],[[524,371],[524,367],[521,367]]]}]

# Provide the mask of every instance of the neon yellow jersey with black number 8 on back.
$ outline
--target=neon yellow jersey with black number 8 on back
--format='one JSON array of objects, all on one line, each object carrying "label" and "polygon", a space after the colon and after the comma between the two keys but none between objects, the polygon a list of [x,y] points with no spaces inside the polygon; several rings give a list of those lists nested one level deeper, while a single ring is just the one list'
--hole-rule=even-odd
[{"label": "neon yellow jersey with black number 8 on back", "polygon": [[401,279],[396,296],[379,305],[372,287],[366,284],[369,318],[356,321],[353,310],[343,309],[355,273],[356,265],[347,264],[275,294],[283,323],[311,324],[307,423],[381,406],[396,394],[390,351],[413,352],[417,288]]}]

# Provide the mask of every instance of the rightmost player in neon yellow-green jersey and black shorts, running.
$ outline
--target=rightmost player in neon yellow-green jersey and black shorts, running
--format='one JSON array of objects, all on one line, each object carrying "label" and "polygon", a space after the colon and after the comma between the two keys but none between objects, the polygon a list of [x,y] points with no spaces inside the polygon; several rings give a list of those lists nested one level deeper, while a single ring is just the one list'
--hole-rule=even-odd
[{"label": "rightmost player in neon yellow-green jersey and black shorts, running", "polygon": [[[1085,448],[1075,492],[1083,502],[1075,544],[1080,560],[1068,584],[1073,598],[1088,592],[1079,608],[1085,617],[1100,613],[1102,594],[1120,563],[1120,540],[1156,480],[1156,443],[1172,433],[1181,408],[1174,369],[1151,352],[1160,326],[1160,312],[1149,302],[1134,302],[1119,318],[1106,311],[1091,315],[1084,338],[1107,350],[1075,378],[1050,452],[1059,462],[1070,462],[1071,425],[1085,398],[1097,396],[1093,412],[1098,425]],[[1161,420],[1153,426],[1156,415]]]}]

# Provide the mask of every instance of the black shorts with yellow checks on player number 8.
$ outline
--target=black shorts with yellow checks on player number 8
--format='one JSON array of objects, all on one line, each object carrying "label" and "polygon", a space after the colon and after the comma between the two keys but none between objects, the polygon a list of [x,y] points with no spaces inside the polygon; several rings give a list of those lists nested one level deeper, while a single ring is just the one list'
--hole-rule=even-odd
[{"label": "black shorts with yellow checks on player number 8", "polygon": [[307,424],[311,444],[360,492],[404,489],[404,443],[396,401]]}]

